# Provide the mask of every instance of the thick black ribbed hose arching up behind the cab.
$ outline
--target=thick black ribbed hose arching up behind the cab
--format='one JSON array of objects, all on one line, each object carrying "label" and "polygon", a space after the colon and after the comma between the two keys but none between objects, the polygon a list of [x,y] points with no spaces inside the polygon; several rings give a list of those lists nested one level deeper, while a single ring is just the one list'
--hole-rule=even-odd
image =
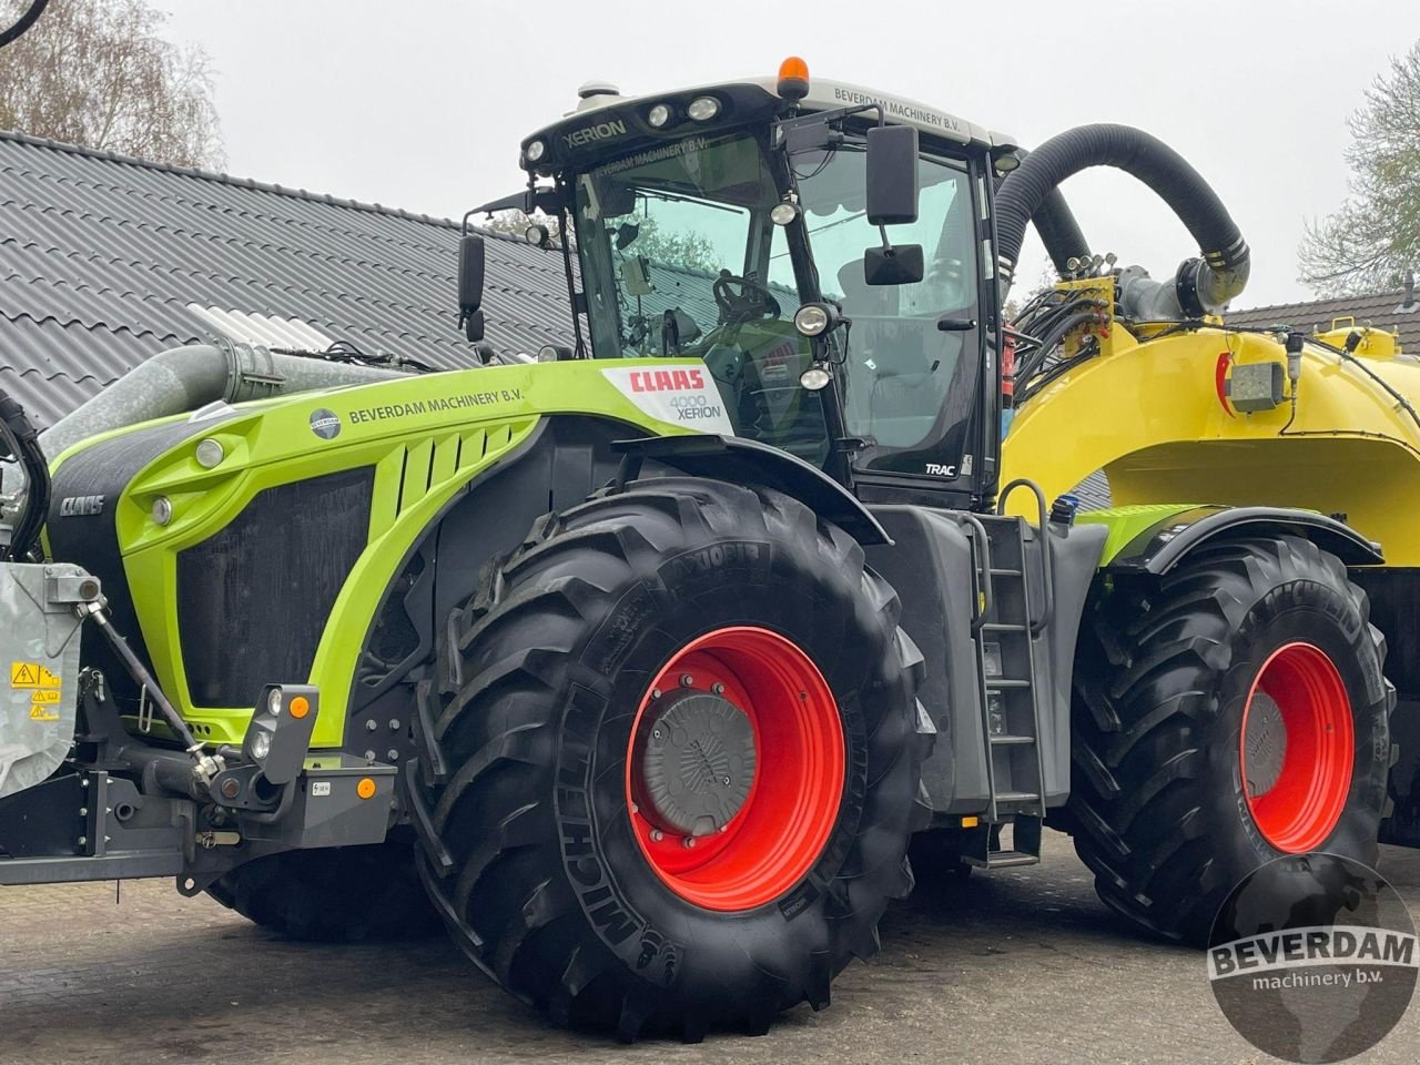
[{"label": "thick black ribbed hose arching up behind the cab", "polygon": [[1250,253],[1223,200],[1169,145],[1142,129],[1122,125],[1079,126],[1052,136],[1001,182],[995,224],[1007,277],[1015,270],[1031,219],[1061,182],[1091,166],[1115,166],[1137,178],[1173,209],[1198,241],[1203,258],[1184,263],[1166,285],[1173,288],[1180,315],[1220,311],[1242,291]]}]

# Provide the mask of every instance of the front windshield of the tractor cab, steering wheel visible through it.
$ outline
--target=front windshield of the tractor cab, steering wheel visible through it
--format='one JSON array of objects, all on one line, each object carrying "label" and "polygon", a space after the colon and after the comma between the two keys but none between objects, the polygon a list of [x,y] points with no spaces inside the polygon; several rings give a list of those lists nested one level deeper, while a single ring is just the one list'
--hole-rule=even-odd
[{"label": "front windshield of the tractor cab, steering wheel visible through it", "polygon": [[578,175],[577,247],[596,358],[704,359],[736,432],[822,464],[822,399],[799,385],[809,342],[770,209],[761,141],[697,136]]}]

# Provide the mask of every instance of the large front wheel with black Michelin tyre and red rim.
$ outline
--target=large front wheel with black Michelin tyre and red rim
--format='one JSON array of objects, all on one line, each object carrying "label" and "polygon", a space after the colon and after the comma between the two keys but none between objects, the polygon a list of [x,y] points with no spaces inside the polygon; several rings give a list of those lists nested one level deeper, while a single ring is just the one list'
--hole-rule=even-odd
[{"label": "large front wheel with black Michelin tyre and red rim", "polygon": [[[760,1034],[801,1001],[826,1005],[838,971],[878,950],[889,897],[912,889],[905,853],[932,737],[914,699],[922,659],[897,613],[852,537],[771,490],[667,477],[541,518],[490,567],[456,642],[440,650],[447,696],[432,741],[447,780],[422,792],[432,835],[420,868],[454,939],[554,1020],[626,1041],[642,1031],[694,1041],[720,1027]],[[795,808],[794,795],[767,808],[785,821],[798,809],[805,832],[822,829],[825,841],[804,851],[802,834],[780,829],[777,839],[765,818],[751,832],[763,795],[741,798],[731,770],[726,788],[744,805],[726,842],[719,829],[697,836],[703,849],[682,852],[692,868],[679,872],[666,849],[680,841],[667,831],[659,851],[650,843],[646,792],[636,791],[645,781],[633,787],[648,741],[633,744],[633,728],[657,686],[684,694],[667,669],[701,653],[707,636],[746,626],[787,642],[772,662],[809,662],[828,686],[826,731],[841,726],[842,743],[819,746],[824,728],[785,741],[802,748],[787,764],[818,781],[814,795],[826,794],[822,772],[839,778],[826,819]],[[734,646],[714,650],[726,667]],[[719,669],[699,662],[684,669]],[[754,676],[748,666],[740,674],[751,701]],[[686,690],[704,683],[689,677]],[[734,682],[724,687],[738,706]],[[812,704],[812,692],[797,701]],[[794,717],[792,703],[758,706],[755,728]],[[738,727],[711,731],[743,740]],[[785,757],[780,747],[757,748],[761,792],[798,775],[765,768]],[[650,777],[670,808],[680,784],[669,788],[667,767],[689,757]],[[696,868],[692,853],[706,863]],[[765,858],[780,853],[804,872]],[[720,890],[736,883],[738,893]]]}]

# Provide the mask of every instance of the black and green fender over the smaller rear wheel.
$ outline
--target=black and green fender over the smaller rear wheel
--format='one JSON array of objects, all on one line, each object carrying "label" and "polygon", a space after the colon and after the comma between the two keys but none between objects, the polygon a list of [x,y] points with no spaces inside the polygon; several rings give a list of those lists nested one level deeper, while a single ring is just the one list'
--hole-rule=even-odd
[{"label": "black and green fender over the smaller rear wheel", "polygon": [[1214,540],[1291,532],[1311,540],[1346,565],[1380,565],[1380,544],[1336,518],[1288,507],[1116,507],[1082,514],[1110,527],[1106,572],[1167,574],[1190,551]]}]

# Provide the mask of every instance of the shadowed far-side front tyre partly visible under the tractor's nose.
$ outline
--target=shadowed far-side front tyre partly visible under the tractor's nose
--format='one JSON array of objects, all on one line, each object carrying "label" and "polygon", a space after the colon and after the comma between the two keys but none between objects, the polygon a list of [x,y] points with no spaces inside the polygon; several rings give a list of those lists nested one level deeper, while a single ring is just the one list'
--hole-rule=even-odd
[{"label": "shadowed far-side front tyre partly visible under the tractor's nose", "polygon": [[264,929],[321,943],[430,936],[439,914],[408,832],[372,846],[284,851],[237,866],[207,895]]}]

